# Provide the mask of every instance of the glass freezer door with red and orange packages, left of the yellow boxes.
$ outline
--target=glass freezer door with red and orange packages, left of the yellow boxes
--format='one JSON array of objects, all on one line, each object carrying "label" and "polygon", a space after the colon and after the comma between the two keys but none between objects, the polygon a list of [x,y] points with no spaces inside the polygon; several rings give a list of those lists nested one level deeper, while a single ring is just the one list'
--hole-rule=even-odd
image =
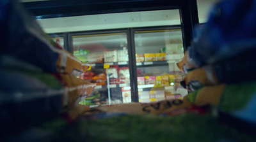
[{"label": "glass freezer door with red and orange packages, left of the yellow boxes", "polygon": [[131,103],[126,33],[72,36],[73,53],[92,70],[81,78],[97,87],[81,104],[89,106]]}]

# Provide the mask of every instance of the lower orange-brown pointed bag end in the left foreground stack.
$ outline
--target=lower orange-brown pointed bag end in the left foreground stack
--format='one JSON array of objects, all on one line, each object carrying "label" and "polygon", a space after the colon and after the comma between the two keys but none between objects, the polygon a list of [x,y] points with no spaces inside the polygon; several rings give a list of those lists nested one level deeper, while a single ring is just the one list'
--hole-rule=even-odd
[{"label": "lower orange-brown pointed bag end in the left foreground stack", "polygon": [[60,81],[65,86],[63,108],[72,108],[75,104],[92,94],[96,83],[90,83],[74,76],[60,74]]}]

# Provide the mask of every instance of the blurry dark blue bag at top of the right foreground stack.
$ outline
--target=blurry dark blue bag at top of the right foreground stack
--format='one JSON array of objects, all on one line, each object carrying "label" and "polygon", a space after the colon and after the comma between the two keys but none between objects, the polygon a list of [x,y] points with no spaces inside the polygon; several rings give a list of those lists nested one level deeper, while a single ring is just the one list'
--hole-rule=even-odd
[{"label": "blurry dark blue bag at top of the right foreground stack", "polygon": [[225,0],[196,28],[189,55],[197,66],[214,64],[256,48],[256,1]]}]

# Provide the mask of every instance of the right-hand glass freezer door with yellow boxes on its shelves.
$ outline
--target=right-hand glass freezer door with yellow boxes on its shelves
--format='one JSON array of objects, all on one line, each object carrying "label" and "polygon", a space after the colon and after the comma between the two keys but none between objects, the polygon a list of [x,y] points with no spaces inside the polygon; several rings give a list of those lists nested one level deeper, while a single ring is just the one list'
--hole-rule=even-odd
[{"label": "right-hand glass freezer door with yellow boxes on its shelves", "polygon": [[176,66],[184,52],[181,31],[138,31],[134,36],[139,101],[182,98],[183,73]]}]

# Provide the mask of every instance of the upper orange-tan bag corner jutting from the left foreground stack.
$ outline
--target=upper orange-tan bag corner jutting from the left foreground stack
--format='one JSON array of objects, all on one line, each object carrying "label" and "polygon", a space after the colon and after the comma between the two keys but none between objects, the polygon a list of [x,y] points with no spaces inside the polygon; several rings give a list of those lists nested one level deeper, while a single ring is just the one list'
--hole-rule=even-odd
[{"label": "upper orange-tan bag corner jutting from the left foreground stack", "polygon": [[90,67],[90,64],[82,63],[79,59],[74,57],[72,53],[61,50],[58,61],[56,62],[56,67],[59,73],[79,76]]}]

